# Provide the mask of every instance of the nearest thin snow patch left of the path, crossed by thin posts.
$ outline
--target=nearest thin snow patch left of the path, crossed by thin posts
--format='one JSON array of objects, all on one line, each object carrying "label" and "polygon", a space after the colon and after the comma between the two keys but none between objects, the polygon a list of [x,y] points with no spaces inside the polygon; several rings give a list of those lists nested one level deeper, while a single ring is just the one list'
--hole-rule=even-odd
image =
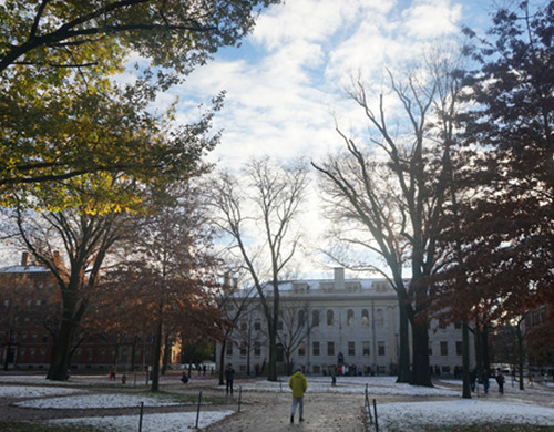
[{"label": "nearest thin snow patch left of the path, crossed by thin posts", "polygon": [[[203,411],[198,418],[198,428],[206,428],[216,423],[233,411]],[[105,432],[126,432],[137,430],[140,422],[138,415],[119,415],[115,418],[82,418],[82,419],[60,419],[50,420],[48,423],[72,424],[72,425],[93,425]],[[175,412],[164,414],[147,414],[142,420],[142,431],[144,432],[193,432],[196,431],[195,412]]]}]

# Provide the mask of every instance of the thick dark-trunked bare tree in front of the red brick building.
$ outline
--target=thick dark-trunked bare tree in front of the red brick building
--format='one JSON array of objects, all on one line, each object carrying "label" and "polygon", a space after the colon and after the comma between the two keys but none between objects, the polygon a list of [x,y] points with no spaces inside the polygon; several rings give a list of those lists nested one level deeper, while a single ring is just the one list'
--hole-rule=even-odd
[{"label": "thick dark-trunked bare tree in front of the red brick building", "polygon": [[[104,258],[121,240],[122,214],[89,215],[74,209],[59,213],[7,210],[14,222],[13,241],[30,250],[51,271],[61,297],[61,319],[54,331],[48,379],[66,380],[72,343],[98,280]],[[65,259],[64,259],[65,258]]]}]

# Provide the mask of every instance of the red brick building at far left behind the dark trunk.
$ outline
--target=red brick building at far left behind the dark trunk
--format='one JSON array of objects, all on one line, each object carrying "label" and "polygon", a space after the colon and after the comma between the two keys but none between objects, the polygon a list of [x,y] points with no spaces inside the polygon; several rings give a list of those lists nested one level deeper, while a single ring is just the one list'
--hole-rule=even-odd
[{"label": "red brick building at far left behind the dark trunk", "polygon": [[[0,268],[0,360],[8,369],[48,369],[61,316],[60,289],[50,270],[30,263]],[[146,369],[152,336],[109,335],[81,328],[71,369]],[[172,356],[172,361],[176,361]]]}]

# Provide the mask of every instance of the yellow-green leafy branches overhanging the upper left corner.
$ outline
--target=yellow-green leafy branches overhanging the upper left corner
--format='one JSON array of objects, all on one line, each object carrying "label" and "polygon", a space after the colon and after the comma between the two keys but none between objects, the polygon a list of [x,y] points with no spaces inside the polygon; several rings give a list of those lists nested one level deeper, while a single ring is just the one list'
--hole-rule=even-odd
[{"label": "yellow-green leafy branches overhanging the upper left corner", "polygon": [[[255,8],[276,2],[3,1],[0,205],[130,209],[150,199],[148,187],[203,172],[220,97],[181,127],[148,103],[249,31]],[[131,53],[151,68],[119,88],[114,75]]]}]

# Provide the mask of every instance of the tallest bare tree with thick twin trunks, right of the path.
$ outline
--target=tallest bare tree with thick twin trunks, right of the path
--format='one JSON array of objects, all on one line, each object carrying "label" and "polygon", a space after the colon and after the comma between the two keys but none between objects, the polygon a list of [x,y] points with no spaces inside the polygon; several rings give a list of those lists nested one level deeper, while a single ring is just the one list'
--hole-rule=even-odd
[{"label": "tallest bare tree with thick twin trunks, right of the path", "polygon": [[[422,72],[427,72],[423,74]],[[337,126],[347,153],[314,164],[321,174],[328,213],[345,224],[341,239],[378,254],[390,270],[400,309],[399,381],[432,385],[429,371],[428,306],[431,276],[438,259],[437,235],[450,185],[444,166],[448,146],[443,122],[452,122],[440,106],[448,106],[443,80],[429,68],[414,71],[406,81],[392,73],[390,89],[400,110],[390,114],[383,94],[377,107],[361,80],[349,96],[363,110],[369,123],[369,144],[360,145]],[[445,97],[445,101],[440,101]],[[438,100],[439,99],[439,100]],[[392,127],[394,125],[394,127]],[[394,132],[393,132],[394,131]],[[353,234],[353,235],[352,235]],[[411,269],[407,284],[404,269]],[[382,274],[386,271],[380,270]],[[412,372],[408,331],[412,328]]]}]

